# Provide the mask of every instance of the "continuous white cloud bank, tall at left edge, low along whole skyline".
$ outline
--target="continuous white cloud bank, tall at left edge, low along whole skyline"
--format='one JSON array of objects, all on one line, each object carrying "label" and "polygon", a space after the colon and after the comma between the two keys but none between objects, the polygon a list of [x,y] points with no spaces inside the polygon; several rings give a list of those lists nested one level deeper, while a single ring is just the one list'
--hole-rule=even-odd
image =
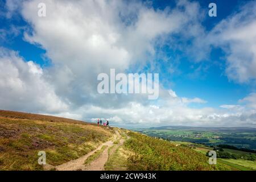
[{"label": "continuous white cloud bank, tall at left edge, low along whole skyline", "polygon": [[[58,115],[75,119],[108,118],[110,125],[121,126],[155,126],[155,125],[189,125],[189,126],[253,126],[256,111],[234,110],[239,105],[222,105],[228,109],[213,108],[191,109],[188,102],[204,102],[200,98],[180,98],[173,90],[163,90],[164,100],[154,105],[139,102],[126,102],[123,107],[101,107],[83,105],[79,109],[68,107],[56,96],[53,86],[44,80],[44,71],[32,61],[24,61],[15,52],[1,49],[0,88],[1,109],[38,111],[39,113]],[[164,94],[166,93],[166,94]],[[170,94],[171,93],[171,94]],[[255,93],[240,102],[255,103]]]}]

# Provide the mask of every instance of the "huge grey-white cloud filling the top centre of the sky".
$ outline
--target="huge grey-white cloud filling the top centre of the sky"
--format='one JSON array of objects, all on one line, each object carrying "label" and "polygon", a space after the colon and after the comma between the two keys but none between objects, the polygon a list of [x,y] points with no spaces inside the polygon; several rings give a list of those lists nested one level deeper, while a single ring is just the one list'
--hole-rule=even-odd
[{"label": "huge grey-white cloud filling the top centre of the sky", "polygon": [[[56,93],[73,107],[93,104],[120,107],[129,101],[149,104],[142,96],[102,96],[96,92],[97,75],[143,67],[155,55],[155,44],[182,31],[197,3],[180,1],[177,9],[155,10],[141,2],[43,1],[47,16],[38,17],[41,1],[25,1],[22,15],[32,31],[24,38],[46,49],[55,67],[48,70]],[[139,70],[137,70],[139,72]]]}]

